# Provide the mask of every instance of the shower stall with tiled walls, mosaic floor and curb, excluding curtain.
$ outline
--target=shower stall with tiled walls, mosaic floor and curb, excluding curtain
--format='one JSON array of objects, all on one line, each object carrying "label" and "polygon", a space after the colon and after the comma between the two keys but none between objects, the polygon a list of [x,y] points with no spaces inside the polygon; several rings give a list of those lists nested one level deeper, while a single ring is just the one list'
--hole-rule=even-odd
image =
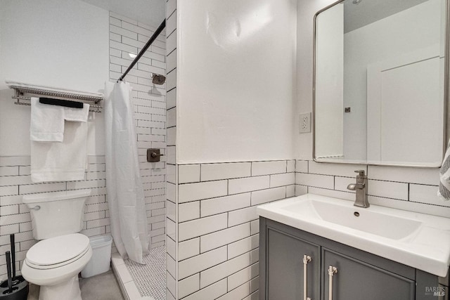
[{"label": "shower stall with tiled walls, mosaic floor and curb, excluding curtain", "polygon": [[[138,262],[122,259],[119,253],[113,253],[112,265],[126,297],[133,299],[135,296],[143,296],[162,300],[166,299],[165,20],[156,30],[139,22],[130,26],[129,22],[131,20],[127,17],[110,14],[110,81],[117,84],[125,81],[131,86],[150,252],[144,253],[142,261]],[[127,37],[131,35],[131,29],[136,30],[138,41],[134,44],[139,53],[130,51],[134,50],[129,48],[129,44],[133,43]],[[144,45],[142,40],[146,36],[143,33],[146,32],[150,32],[151,37]],[[134,59],[131,61],[131,58]],[[116,63],[119,63],[120,69],[115,66]],[[123,74],[114,70],[121,70]],[[148,151],[150,149],[152,152]],[[136,211],[136,214],[139,213],[140,211]],[[114,228],[113,221],[112,218],[111,226]],[[114,237],[114,230],[112,231]]]}]

